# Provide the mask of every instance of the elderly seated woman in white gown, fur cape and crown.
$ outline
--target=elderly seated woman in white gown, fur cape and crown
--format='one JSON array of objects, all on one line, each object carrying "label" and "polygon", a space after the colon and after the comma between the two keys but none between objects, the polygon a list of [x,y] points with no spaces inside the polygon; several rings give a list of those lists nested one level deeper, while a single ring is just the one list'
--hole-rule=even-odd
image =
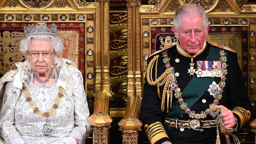
[{"label": "elderly seated woman in white gown, fur cape and crown", "polygon": [[37,23],[24,32],[20,52],[27,60],[0,79],[4,144],[82,143],[91,132],[83,78],[74,62],[57,57],[63,51],[57,26]]}]

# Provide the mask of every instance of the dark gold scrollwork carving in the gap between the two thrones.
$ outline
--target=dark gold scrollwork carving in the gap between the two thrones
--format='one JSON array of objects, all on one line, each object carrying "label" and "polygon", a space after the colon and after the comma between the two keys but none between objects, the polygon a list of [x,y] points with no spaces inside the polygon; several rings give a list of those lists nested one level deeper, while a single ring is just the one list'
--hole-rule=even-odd
[{"label": "dark gold scrollwork carving in the gap between the two thrones", "polygon": [[[114,88],[120,84],[119,94],[126,95],[127,88],[127,14],[119,13],[110,16],[109,34],[113,35],[114,39],[110,42],[109,60],[114,63],[110,67],[111,83]],[[119,32],[120,31],[120,32]],[[121,33],[117,34],[117,32]],[[117,37],[117,35],[120,35]],[[121,57],[121,61],[117,63],[115,59]]]}]

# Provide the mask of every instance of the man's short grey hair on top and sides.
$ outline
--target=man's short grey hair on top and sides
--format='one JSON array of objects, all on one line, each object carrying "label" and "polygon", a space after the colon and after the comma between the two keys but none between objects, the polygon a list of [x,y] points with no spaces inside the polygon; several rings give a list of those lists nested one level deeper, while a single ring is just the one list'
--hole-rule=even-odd
[{"label": "man's short grey hair on top and sides", "polygon": [[178,31],[180,28],[180,20],[182,16],[202,16],[204,20],[204,28],[207,30],[208,28],[208,17],[206,16],[206,13],[204,11],[204,8],[197,5],[197,4],[184,4],[180,6],[173,18],[173,26]]}]

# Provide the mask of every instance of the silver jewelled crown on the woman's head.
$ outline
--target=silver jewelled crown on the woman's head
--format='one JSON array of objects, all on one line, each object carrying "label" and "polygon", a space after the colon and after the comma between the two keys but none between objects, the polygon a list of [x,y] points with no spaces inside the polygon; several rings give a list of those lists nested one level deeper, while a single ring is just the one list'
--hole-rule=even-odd
[{"label": "silver jewelled crown on the woman's head", "polygon": [[46,22],[37,22],[35,26],[34,24],[28,24],[28,27],[24,26],[24,33],[26,34],[26,37],[30,35],[52,35],[55,37],[57,33],[57,26],[56,24],[51,24],[48,28],[46,26]]}]

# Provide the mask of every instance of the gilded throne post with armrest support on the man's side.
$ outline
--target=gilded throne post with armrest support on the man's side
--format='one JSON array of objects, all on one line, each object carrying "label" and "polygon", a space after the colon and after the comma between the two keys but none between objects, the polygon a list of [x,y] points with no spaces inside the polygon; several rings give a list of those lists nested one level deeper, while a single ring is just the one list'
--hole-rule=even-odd
[{"label": "gilded throne post with armrest support on the man's side", "polygon": [[118,123],[123,144],[137,144],[142,122],[138,119],[141,106],[141,46],[139,33],[140,0],[127,0],[128,102],[124,118]]}]

